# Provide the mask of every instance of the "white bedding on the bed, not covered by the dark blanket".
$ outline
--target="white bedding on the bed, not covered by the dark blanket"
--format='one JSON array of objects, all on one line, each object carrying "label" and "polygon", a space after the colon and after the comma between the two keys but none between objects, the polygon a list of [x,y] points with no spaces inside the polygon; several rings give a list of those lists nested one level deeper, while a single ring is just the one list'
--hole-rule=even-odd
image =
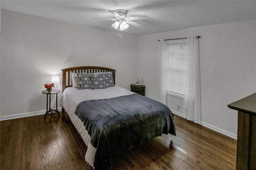
[{"label": "white bedding on the bed, not covered by the dark blanket", "polygon": [[109,99],[118,96],[132,95],[134,94],[131,91],[128,91],[122,87],[108,87],[106,89],[84,89],[78,90],[73,87],[66,88],[60,99],[60,105],[66,110],[70,120],[76,127],[77,131],[81,135],[84,143],[86,144],[87,151],[85,154],[85,160],[94,168],[94,156],[96,152],[96,148],[92,146],[90,143],[91,137],[85,129],[82,121],[74,114],[76,111],[76,106],[82,101],[87,100],[96,100],[96,99]]}]

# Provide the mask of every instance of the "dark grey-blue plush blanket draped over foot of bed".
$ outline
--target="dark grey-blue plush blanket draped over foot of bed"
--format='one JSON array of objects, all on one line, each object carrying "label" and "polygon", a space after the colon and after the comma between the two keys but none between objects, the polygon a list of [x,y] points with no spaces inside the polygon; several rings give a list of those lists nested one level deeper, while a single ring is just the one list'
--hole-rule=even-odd
[{"label": "dark grey-blue plush blanket draped over foot of bed", "polygon": [[170,109],[138,94],[83,101],[75,114],[84,123],[96,148],[96,170],[110,169],[111,160],[133,146],[163,133],[176,135]]}]

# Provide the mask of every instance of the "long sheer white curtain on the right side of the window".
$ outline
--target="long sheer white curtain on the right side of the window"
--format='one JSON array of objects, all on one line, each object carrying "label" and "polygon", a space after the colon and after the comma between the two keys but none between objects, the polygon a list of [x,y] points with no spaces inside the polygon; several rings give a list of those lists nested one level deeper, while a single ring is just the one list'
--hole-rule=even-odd
[{"label": "long sheer white curtain on the right side of the window", "polygon": [[201,125],[200,59],[197,36],[188,37],[184,106],[186,119]]}]

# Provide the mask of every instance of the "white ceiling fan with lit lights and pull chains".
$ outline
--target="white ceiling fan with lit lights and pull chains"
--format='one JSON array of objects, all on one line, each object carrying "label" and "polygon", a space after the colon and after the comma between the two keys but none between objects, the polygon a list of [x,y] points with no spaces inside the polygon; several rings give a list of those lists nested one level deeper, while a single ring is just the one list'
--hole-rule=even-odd
[{"label": "white ceiling fan with lit lights and pull chains", "polygon": [[[118,36],[119,36],[119,30],[123,31],[126,30],[129,27],[129,24],[140,27],[141,25],[133,22],[132,20],[148,20],[148,16],[127,16],[128,11],[127,10],[108,10],[111,14],[113,14],[116,18],[93,18],[93,20],[112,20],[116,21],[112,26],[118,30]],[[122,34],[122,33],[121,33]],[[122,37],[122,35],[120,36]]]}]

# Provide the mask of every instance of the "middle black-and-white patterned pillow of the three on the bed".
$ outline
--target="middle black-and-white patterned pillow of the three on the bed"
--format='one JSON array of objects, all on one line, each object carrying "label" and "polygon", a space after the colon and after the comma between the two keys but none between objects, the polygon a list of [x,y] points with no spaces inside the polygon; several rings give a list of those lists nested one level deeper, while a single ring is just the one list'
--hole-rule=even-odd
[{"label": "middle black-and-white patterned pillow of the three on the bed", "polygon": [[91,89],[106,89],[105,74],[90,74]]}]

